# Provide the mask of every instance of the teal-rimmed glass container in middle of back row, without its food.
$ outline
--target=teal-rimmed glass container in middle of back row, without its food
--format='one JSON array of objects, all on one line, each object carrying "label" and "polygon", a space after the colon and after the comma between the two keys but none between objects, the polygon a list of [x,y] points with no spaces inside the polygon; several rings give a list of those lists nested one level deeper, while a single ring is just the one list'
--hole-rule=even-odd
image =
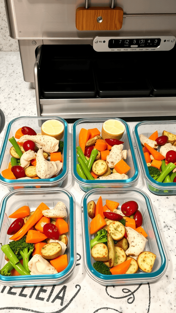
[{"label": "teal-rimmed glass container in middle of back row, without its food", "polygon": [[[136,155],[134,151],[134,147],[132,144],[132,136],[130,132],[130,128],[128,124],[119,119],[119,118],[114,118],[117,121],[121,121],[124,126],[125,126],[125,131],[124,134],[121,138],[121,141],[124,141],[123,143],[123,149],[127,150],[128,156],[125,162],[131,167],[129,172],[127,173],[128,179],[124,180],[86,180],[81,178],[77,171],[76,171],[76,164],[78,163],[77,161],[77,156],[76,156],[76,147],[79,146],[79,133],[81,128],[85,129],[91,129],[91,128],[98,128],[98,130],[101,132],[101,128],[103,123],[107,120],[104,118],[87,118],[87,119],[80,119],[76,121],[72,125],[72,168],[71,168],[71,173],[72,177],[74,180],[79,184],[80,188],[83,191],[89,191],[92,188],[98,188],[98,187],[129,187],[131,186],[134,182],[137,181],[137,178],[139,176],[139,170],[137,166],[137,161],[136,161]],[[101,136],[101,134],[100,134]]]}]

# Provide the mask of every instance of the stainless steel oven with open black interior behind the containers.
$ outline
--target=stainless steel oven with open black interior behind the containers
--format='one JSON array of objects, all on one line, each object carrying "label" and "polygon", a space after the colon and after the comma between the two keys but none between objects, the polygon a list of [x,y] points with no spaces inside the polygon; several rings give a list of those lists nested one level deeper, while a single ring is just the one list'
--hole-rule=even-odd
[{"label": "stainless steel oven with open black interior behind the containers", "polygon": [[5,0],[39,116],[176,115],[176,1]]}]

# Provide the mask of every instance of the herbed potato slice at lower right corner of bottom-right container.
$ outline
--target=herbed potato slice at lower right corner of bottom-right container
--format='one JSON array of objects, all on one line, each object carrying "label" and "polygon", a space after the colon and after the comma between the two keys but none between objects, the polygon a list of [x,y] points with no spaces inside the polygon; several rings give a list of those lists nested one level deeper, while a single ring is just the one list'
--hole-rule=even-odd
[{"label": "herbed potato slice at lower right corner of bottom-right container", "polygon": [[150,273],[153,269],[155,259],[156,254],[150,251],[143,251],[138,255],[137,264],[143,272]]}]

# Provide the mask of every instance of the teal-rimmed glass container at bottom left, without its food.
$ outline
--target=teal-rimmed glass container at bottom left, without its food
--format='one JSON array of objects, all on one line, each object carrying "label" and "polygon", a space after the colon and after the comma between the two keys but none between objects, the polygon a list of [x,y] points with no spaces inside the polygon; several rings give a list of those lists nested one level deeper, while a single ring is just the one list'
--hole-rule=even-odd
[{"label": "teal-rimmed glass container at bottom left, without its food", "polygon": [[[69,224],[67,253],[68,266],[62,272],[51,275],[23,275],[23,276],[3,276],[0,274],[0,283],[5,286],[39,286],[39,285],[59,285],[62,284],[73,273],[76,265],[76,233],[75,233],[75,198],[63,188],[43,188],[43,189],[18,189],[9,192],[1,201],[0,216],[0,242],[2,245],[9,243],[7,230],[14,221],[8,216],[23,205],[28,205],[31,211],[45,203],[50,209],[54,208],[58,201],[66,205],[67,218]],[[0,268],[7,263],[4,253],[0,249]]]}]

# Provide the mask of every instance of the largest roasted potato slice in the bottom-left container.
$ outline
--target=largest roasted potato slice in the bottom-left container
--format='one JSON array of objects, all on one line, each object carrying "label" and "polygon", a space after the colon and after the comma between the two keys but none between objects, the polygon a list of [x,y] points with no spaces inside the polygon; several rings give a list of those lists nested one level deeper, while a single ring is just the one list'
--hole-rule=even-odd
[{"label": "largest roasted potato slice in the bottom-left container", "polygon": [[44,259],[55,259],[62,253],[62,247],[58,242],[49,242],[41,249],[41,254]]}]

